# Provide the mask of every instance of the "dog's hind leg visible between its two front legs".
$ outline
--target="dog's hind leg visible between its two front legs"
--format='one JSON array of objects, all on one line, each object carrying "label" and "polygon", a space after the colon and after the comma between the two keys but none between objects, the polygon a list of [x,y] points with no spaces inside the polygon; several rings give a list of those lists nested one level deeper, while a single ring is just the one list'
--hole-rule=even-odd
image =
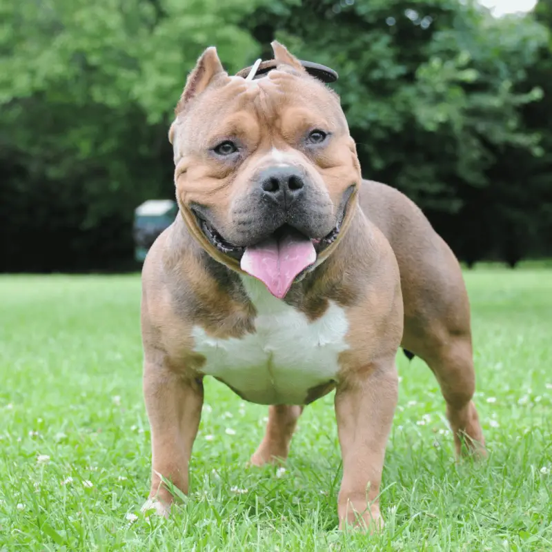
[{"label": "dog's hind leg visible between its two front legs", "polygon": [[289,454],[291,437],[297,420],[303,411],[302,406],[277,404],[268,407],[268,424],[259,448],[251,457],[250,464],[262,466],[268,462],[286,460]]}]

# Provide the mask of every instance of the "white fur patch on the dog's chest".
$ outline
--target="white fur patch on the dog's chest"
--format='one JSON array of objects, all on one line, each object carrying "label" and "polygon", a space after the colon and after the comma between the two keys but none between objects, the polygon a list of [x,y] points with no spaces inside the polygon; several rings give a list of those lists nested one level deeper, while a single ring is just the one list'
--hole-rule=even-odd
[{"label": "white fur patch on the dog's chest", "polygon": [[255,333],[217,339],[195,326],[194,350],[204,355],[202,371],[219,377],[259,404],[304,404],[308,390],[339,372],[339,353],[348,349],[348,322],[335,303],[314,322],[270,295],[264,284],[242,277],[257,309]]}]

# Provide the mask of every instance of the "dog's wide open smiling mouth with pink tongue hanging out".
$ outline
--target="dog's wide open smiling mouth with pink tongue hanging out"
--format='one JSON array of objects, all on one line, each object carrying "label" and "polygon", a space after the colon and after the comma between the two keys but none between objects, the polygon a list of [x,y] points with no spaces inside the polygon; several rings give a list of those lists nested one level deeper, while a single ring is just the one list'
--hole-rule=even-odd
[{"label": "dog's wide open smiling mouth with pink tongue hanging out", "polygon": [[346,206],[337,224],[322,238],[308,237],[289,224],[250,246],[236,246],[224,239],[216,228],[193,209],[201,232],[211,245],[224,255],[239,261],[244,272],[261,280],[270,293],[282,299],[293,282],[298,282],[315,264],[317,256],[333,244],[342,228]]}]

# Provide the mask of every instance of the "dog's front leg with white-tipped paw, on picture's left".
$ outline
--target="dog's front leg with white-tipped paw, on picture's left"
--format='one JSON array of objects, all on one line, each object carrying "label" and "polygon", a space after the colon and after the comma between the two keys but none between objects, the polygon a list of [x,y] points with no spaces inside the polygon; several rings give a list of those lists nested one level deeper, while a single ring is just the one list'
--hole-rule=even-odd
[{"label": "dog's front leg with white-tipped paw, on picture's left", "polygon": [[152,480],[144,508],[168,515],[173,497],[163,480],[188,493],[188,464],[203,395],[201,379],[175,370],[160,351],[146,355],[144,397],[151,428]]}]

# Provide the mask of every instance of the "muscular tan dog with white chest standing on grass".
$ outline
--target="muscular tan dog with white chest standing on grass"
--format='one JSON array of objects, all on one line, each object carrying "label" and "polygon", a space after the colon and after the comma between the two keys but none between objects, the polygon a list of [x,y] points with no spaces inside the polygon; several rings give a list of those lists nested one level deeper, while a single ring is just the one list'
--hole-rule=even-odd
[{"label": "muscular tan dog with white chest standing on grass", "polygon": [[468,297],[421,211],[362,180],[337,95],[273,50],[257,79],[228,76],[206,50],[170,130],[180,214],[143,272],[146,504],[168,512],[164,480],[188,493],[212,375],[271,405],[256,465],[285,459],[303,406],[335,389],[340,526],[380,526],[401,345],[435,373],[457,452],[484,451]]}]

